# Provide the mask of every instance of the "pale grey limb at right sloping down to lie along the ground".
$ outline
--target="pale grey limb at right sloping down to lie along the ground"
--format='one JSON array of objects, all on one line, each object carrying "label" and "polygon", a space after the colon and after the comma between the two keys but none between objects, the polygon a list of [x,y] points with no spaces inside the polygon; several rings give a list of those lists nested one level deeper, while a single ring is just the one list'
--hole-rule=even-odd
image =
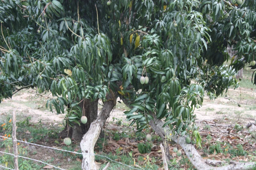
[{"label": "pale grey limb at right sloping down to lie along the ground", "polygon": [[[164,122],[162,120],[150,120],[149,125],[154,129],[154,131],[162,137],[165,138],[165,132],[168,132],[170,129],[168,127],[162,127]],[[230,162],[229,165],[220,166],[220,167],[212,167],[208,165],[207,160],[203,160],[202,157],[198,154],[196,148],[193,144],[187,144],[185,137],[172,136],[171,140],[179,144],[184,152],[186,153],[190,162],[194,165],[194,167],[198,170],[249,170],[253,169],[256,166],[255,162],[249,163],[238,163],[238,162]],[[192,154],[192,157],[189,157],[189,154]]]}]

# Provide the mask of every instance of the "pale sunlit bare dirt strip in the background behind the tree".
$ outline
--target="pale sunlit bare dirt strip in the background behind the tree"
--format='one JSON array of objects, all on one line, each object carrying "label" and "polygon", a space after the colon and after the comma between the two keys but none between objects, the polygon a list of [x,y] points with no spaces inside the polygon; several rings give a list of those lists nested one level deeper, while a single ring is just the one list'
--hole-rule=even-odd
[{"label": "pale sunlit bare dirt strip in the background behind the tree", "polygon": [[[240,101],[240,89],[242,93],[242,99]],[[256,118],[256,90],[240,88],[236,90],[229,90],[230,95],[227,97],[219,96],[215,100],[207,99],[205,96],[203,106],[195,110],[196,118],[202,120],[214,120],[214,119],[225,119],[229,117],[230,120],[240,118],[244,122],[253,121]],[[48,95],[48,96],[47,96]],[[65,117],[64,114],[57,114],[55,110],[53,113],[45,108],[45,103],[48,97],[52,97],[49,94],[38,95],[33,89],[24,90],[16,93],[11,99],[4,99],[0,104],[0,115],[9,115],[13,109],[16,109],[17,114],[23,117],[31,117],[30,122],[37,123],[39,120],[42,122],[62,122]],[[230,99],[230,100],[229,100]],[[118,101],[119,99],[117,99]],[[238,107],[237,104],[241,104]],[[101,104],[101,101],[99,101]],[[98,113],[102,106],[99,105]],[[116,108],[112,111],[109,121],[113,118],[122,119],[125,121],[123,112],[128,108],[122,103],[117,102]],[[232,115],[230,117],[230,115]],[[0,118],[1,120],[1,118]],[[230,121],[231,123],[232,121]],[[227,122],[226,122],[227,123]]]}]

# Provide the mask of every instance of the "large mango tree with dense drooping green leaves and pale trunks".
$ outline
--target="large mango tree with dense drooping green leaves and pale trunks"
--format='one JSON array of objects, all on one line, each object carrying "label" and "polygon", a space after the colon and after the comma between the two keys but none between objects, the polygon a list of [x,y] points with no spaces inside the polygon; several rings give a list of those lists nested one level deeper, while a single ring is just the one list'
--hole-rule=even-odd
[{"label": "large mango tree with dense drooping green leaves and pale trunks", "polygon": [[[93,153],[118,96],[131,108],[125,115],[138,132],[150,125],[164,138],[163,126],[186,152],[188,144],[176,137],[188,135],[192,124],[191,137],[200,147],[195,107],[205,92],[214,99],[237,88],[236,71],[255,60],[255,4],[3,0],[0,99],[23,88],[50,91],[53,98],[46,107],[66,114],[60,135],[66,137],[68,130],[79,140],[88,132],[81,142],[84,153]],[[225,66],[228,44],[238,52]],[[99,99],[104,105],[97,116]],[[85,125],[80,122],[83,115],[88,118]],[[210,168],[195,148],[192,152],[198,157],[192,162],[196,168]],[[83,157],[82,168],[95,169],[94,158]]]}]

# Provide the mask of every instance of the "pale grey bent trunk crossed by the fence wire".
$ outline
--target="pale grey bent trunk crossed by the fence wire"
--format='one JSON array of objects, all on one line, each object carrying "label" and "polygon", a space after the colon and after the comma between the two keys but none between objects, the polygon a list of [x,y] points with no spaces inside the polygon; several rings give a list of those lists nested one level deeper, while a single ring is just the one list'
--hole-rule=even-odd
[{"label": "pale grey bent trunk crossed by the fence wire", "polygon": [[91,123],[88,132],[83,136],[80,143],[83,154],[82,170],[96,170],[94,163],[94,145],[100,135],[101,128],[104,126],[110,116],[111,110],[115,106],[116,100],[112,91],[111,96],[108,94],[106,98],[107,102],[104,103],[97,119]]}]

